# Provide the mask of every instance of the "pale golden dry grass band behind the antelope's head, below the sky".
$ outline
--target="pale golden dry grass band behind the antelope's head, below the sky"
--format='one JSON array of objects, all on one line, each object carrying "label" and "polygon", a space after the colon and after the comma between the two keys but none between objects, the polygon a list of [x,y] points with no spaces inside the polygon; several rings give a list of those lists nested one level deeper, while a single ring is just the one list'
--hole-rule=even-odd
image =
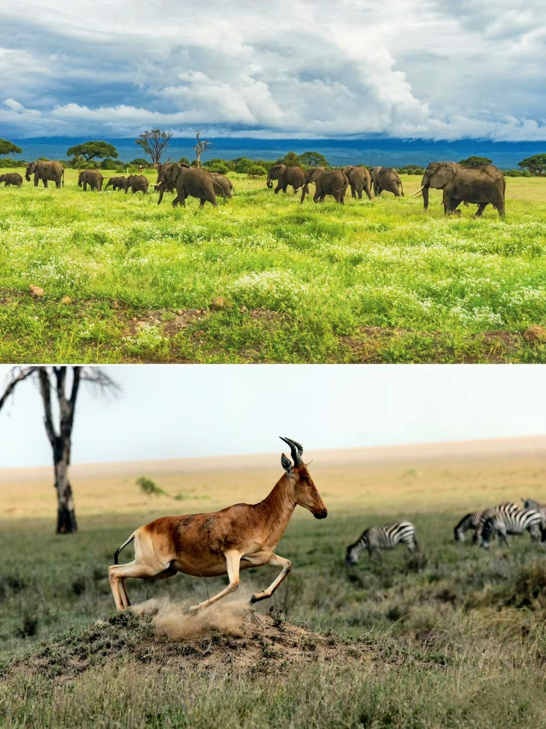
[{"label": "pale golden dry grass band behind the antelope's head, below the sky", "polygon": [[[306,452],[327,506],[366,514],[458,513],[533,496],[546,501],[546,437]],[[142,494],[145,475],[175,502]],[[212,511],[258,502],[281,475],[279,455],[135,461],[72,467],[80,517]],[[0,471],[0,518],[55,518],[50,468]],[[297,512],[296,512],[297,513]]]}]

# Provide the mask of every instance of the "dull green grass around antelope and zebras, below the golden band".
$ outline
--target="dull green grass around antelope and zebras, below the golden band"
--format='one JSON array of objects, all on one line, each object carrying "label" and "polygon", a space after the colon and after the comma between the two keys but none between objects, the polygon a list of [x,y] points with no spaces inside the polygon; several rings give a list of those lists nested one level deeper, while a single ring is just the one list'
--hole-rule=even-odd
[{"label": "dull green grass around antelope and zebras, below the golden band", "polygon": [[[414,515],[418,560],[400,547],[347,568],[369,520],[296,515],[278,547],[293,572],[258,606],[282,609],[277,634],[170,643],[145,618],[114,616],[106,567],[138,518],[81,521],[64,537],[44,521],[2,524],[2,726],[546,726],[546,567],[528,535],[486,552],[454,543],[455,516]],[[235,597],[274,574],[245,571]],[[178,575],[127,588],[134,602],[187,604],[223,584]],[[290,644],[302,624],[312,632]]]}]

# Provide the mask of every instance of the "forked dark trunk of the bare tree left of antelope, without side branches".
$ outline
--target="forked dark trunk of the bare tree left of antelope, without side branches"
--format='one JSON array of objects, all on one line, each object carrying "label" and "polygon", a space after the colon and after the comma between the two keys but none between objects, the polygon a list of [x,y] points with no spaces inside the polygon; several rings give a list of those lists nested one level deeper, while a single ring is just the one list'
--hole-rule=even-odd
[{"label": "forked dark trunk of the bare tree left of antelope, without side branches", "polygon": [[66,367],[53,367],[60,410],[59,432],[55,431],[53,424],[50,378],[44,367],[38,370],[41,399],[44,402],[44,424],[53,451],[55,490],[57,491],[57,534],[71,534],[78,529],[74,495],[70,480],[68,480],[68,467],[70,466],[72,426],[74,425],[74,408],[78,395],[80,369],[80,367],[74,367],[71,396],[67,399],[65,392]]}]

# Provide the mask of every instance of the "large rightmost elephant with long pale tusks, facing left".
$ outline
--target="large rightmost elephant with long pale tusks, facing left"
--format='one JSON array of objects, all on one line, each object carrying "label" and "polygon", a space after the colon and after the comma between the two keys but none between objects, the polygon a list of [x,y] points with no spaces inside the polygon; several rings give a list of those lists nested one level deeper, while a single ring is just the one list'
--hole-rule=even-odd
[{"label": "large rightmost elephant with long pale tusks, facing left", "polygon": [[421,187],[413,193],[423,195],[424,209],[429,206],[429,188],[443,190],[443,211],[460,214],[460,203],[476,203],[476,217],[481,217],[491,203],[505,217],[505,176],[494,165],[463,167],[455,162],[431,162],[424,171]]}]

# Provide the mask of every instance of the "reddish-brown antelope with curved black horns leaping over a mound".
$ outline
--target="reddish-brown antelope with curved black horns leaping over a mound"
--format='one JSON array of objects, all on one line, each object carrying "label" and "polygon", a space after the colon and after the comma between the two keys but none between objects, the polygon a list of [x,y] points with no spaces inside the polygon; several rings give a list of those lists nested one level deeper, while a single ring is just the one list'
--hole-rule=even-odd
[{"label": "reddish-brown antelope with curved black horns leaping over a mound", "polygon": [[[234,504],[221,511],[189,516],[164,516],[133,531],[114,554],[108,577],[116,608],[130,607],[124,580],[143,577],[165,580],[177,572],[195,577],[227,574],[229,585],[218,595],[194,605],[190,610],[211,605],[239,587],[239,572],[264,564],[282,567],[277,579],[264,592],[250,598],[254,603],[271,597],[285,579],[292,563],[274,553],[296,505],[309,509],[317,519],[328,515],[323,499],[314,486],[306,464],[301,460],[303,446],[282,438],[290,445],[293,464],[284,453],[285,469],[273,490],[259,504]],[[119,553],[135,540],[135,560],[118,564]]]}]

